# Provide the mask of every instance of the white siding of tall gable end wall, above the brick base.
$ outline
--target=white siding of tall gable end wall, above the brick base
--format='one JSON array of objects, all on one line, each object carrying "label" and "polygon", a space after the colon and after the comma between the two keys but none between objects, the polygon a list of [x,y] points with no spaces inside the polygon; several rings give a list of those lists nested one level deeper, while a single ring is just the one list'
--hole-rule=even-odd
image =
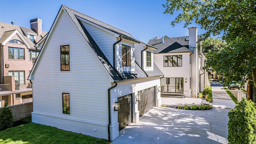
[{"label": "white siding of tall gable end wall, above the brick base", "polygon": [[[64,12],[33,74],[34,112],[108,124],[109,76]],[[60,45],[70,45],[70,71],[60,71]],[[70,93],[70,114],[62,113],[62,92]]]}]

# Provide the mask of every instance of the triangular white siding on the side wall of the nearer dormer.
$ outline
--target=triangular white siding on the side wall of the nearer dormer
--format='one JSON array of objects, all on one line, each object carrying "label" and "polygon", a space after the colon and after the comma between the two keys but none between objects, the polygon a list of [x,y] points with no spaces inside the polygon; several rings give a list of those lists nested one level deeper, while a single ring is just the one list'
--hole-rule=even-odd
[{"label": "triangular white siding on the side wall of the nearer dormer", "polygon": [[82,21],[82,24],[113,66],[113,44],[117,41],[114,35],[86,22]]}]

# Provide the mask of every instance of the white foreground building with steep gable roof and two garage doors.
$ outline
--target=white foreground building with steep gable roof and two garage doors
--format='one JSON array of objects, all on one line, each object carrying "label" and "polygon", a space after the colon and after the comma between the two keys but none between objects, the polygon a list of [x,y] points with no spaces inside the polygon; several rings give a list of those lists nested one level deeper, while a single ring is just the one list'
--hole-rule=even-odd
[{"label": "white foreground building with steep gable roof and two garage doors", "polygon": [[41,47],[32,122],[114,140],[161,105],[156,48],[127,32],[62,6]]}]

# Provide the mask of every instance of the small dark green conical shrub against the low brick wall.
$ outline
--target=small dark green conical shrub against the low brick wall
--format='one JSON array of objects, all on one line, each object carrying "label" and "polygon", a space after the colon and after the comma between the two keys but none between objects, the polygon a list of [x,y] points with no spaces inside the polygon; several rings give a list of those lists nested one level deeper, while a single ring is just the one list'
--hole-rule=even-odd
[{"label": "small dark green conical shrub against the low brick wall", "polygon": [[12,115],[12,110],[7,107],[7,103],[4,104],[4,108],[0,113],[0,129],[9,128],[13,125],[14,118]]}]

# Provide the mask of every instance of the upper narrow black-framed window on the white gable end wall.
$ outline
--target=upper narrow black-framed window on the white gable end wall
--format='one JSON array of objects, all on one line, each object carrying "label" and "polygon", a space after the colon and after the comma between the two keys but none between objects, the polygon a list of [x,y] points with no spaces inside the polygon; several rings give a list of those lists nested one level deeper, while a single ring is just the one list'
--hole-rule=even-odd
[{"label": "upper narrow black-framed window on the white gable end wall", "polygon": [[60,70],[70,70],[70,50],[69,45],[60,46]]}]

